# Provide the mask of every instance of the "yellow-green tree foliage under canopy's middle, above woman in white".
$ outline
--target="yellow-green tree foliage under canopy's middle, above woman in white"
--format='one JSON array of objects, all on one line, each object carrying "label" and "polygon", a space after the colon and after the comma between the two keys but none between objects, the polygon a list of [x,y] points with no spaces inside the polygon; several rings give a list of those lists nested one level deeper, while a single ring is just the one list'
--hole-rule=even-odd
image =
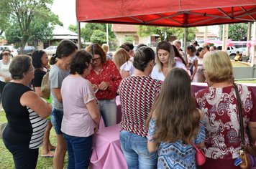
[{"label": "yellow-green tree foliage under canopy's middle, above woman in white", "polygon": [[158,34],[161,41],[169,42],[171,36],[178,32],[177,28],[174,27],[164,27],[164,26],[144,26],[144,25],[136,25],[139,29],[137,34],[139,37],[147,37],[152,34]]}]

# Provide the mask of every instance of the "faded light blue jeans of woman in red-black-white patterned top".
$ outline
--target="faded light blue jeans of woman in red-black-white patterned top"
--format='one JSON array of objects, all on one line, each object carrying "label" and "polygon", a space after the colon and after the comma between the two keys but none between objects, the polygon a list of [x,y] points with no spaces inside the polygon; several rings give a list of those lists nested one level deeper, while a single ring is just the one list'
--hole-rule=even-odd
[{"label": "faded light blue jeans of woman in red-black-white patterned top", "polygon": [[157,168],[157,151],[147,150],[147,138],[140,137],[125,130],[119,132],[119,139],[128,168]]}]

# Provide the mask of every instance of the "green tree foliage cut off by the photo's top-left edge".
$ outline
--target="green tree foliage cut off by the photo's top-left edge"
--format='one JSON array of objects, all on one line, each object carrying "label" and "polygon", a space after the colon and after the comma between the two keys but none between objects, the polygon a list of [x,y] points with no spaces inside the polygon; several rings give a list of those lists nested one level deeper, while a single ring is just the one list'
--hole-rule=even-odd
[{"label": "green tree foliage cut off by the photo's top-left edge", "polygon": [[1,1],[0,5],[0,35],[10,26],[11,8],[8,1]]}]

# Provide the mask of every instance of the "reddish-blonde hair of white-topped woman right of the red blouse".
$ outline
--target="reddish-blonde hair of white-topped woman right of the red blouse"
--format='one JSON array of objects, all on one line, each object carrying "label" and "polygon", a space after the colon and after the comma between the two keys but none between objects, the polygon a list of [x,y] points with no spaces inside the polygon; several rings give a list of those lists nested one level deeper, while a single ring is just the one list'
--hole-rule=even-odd
[{"label": "reddish-blonde hair of white-topped woman right of the red blouse", "polygon": [[129,60],[129,53],[122,48],[119,48],[113,57],[113,62],[116,64],[117,69],[120,72],[120,67]]}]

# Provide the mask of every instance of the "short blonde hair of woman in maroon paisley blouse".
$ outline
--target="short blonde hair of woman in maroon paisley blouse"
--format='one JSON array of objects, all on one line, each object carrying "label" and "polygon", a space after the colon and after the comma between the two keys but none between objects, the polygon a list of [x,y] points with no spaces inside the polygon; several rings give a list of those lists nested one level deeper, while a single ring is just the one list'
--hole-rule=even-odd
[{"label": "short blonde hair of woman in maroon paisley blouse", "polygon": [[233,76],[233,67],[226,52],[209,52],[203,59],[204,69],[211,82],[224,82]]}]

